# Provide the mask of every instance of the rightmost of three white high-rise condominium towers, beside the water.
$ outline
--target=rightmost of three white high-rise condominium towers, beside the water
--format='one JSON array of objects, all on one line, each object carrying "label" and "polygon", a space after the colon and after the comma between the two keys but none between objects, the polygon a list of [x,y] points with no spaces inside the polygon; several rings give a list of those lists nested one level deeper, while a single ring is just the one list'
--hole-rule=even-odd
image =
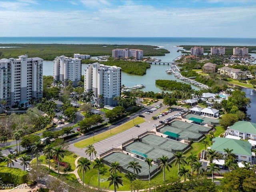
[{"label": "rightmost of three white high-rise condominium towers, beside the water", "polygon": [[[113,106],[114,97],[121,96],[121,68],[104,64],[89,64],[84,70],[84,92],[93,91],[98,104]],[[98,98],[102,95],[102,99]]]}]

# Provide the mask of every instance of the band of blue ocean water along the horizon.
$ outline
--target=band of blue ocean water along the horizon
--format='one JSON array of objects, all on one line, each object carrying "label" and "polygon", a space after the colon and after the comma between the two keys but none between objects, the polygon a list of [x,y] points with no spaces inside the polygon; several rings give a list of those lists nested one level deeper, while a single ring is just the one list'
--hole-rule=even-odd
[{"label": "band of blue ocean water along the horizon", "polygon": [[142,44],[156,46],[255,46],[256,38],[192,37],[0,37],[0,44]]}]

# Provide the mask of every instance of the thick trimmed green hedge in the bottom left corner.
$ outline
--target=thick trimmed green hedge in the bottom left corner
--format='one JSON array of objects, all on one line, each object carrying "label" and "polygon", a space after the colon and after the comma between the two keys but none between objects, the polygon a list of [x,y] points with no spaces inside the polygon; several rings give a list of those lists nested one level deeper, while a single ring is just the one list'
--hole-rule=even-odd
[{"label": "thick trimmed green hedge in the bottom left corner", "polygon": [[14,185],[26,183],[28,172],[22,171],[19,168],[9,168],[0,166],[0,178],[5,183]]}]

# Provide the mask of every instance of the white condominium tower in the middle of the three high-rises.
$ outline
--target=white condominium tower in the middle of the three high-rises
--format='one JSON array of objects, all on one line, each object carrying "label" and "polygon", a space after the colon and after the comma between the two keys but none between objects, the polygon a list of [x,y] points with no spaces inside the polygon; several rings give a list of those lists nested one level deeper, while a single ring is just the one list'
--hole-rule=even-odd
[{"label": "white condominium tower in the middle of the three high-rises", "polygon": [[68,80],[77,86],[81,79],[81,59],[69,58],[64,55],[56,57],[53,61],[53,79],[61,81],[64,86],[68,85]]}]

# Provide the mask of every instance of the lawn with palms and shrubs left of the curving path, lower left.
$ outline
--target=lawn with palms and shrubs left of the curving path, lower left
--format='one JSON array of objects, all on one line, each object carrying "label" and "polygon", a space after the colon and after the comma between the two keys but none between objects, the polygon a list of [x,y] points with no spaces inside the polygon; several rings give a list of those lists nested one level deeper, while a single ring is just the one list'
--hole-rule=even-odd
[{"label": "lawn with palms and shrubs left of the curving path, lower left", "polygon": [[[75,155],[74,153],[69,152],[69,151],[66,151],[65,154],[64,154],[64,158],[61,160],[61,162],[69,162],[69,163],[70,163],[71,169],[70,169],[69,172],[74,171],[74,170],[76,169],[75,160],[76,160],[76,158],[78,158],[78,156],[76,155],[77,157],[74,158],[74,157],[73,157],[74,155]],[[41,155],[41,156],[38,158],[38,162],[39,162],[40,164],[46,164],[46,165],[48,165],[48,162],[46,162],[46,156],[44,156],[44,155]],[[33,160],[32,160],[32,163],[36,164],[36,159],[33,159]],[[56,165],[56,164],[55,164],[54,162],[51,162],[51,163],[50,163],[50,166],[51,166],[52,168],[54,168],[55,165]],[[62,167],[60,166],[60,172],[63,172],[63,169],[61,169],[61,168],[62,168]],[[56,168],[56,170],[58,170],[58,168]]]}]

